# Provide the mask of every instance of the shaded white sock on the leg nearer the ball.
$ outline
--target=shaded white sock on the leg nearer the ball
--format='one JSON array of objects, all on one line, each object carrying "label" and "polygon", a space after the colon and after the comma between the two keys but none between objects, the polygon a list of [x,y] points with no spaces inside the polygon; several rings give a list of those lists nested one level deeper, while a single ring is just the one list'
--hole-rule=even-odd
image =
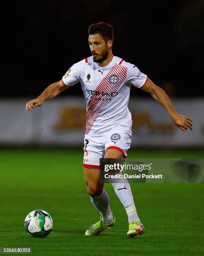
[{"label": "shaded white sock on the leg nearer the ball", "polygon": [[109,207],[109,198],[107,193],[105,192],[105,189],[103,189],[103,192],[101,195],[97,197],[90,196],[90,198],[94,207],[102,215],[102,220],[107,223],[110,222],[113,218],[113,215]]}]

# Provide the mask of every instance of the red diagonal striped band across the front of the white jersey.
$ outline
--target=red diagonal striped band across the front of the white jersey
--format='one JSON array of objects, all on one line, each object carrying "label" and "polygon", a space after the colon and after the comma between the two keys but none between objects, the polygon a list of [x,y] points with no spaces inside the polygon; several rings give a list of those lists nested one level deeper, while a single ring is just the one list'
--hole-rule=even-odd
[{"label": "red diagonal striped band across the front of the white jersey", "polygon": [[[111,84],[109,82],[109,76],[112,74],[117,74],[119,77],[119,82],[117,84]],[[111,93],[112,88],[114,88],[114,92],[117,92],[121,85],[124,83],[127,77],[127,67],[119,65],[117,63],[114,64],[112,69],[108,72],[108,74],[102,79],[100,84],[96,87],[95,92],[97,94],[93,94],[90,97],[87,106],[87,120],[86,120],[86,134],[88,134],[92,128],[92,125],[95,123],[97,117],[102,113],[102,111],[106,108],[109,103],[109,96],[102,95],[104,92]]]}]

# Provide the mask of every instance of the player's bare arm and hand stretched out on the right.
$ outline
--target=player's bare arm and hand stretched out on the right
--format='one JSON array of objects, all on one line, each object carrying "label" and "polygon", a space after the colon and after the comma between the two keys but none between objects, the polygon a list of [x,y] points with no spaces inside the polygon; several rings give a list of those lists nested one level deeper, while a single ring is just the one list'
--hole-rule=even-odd
[{"label": "player's bare arm and hand stretched out on the right", "polygon": [[164,90],[162,90],[162,88],[156,86],[150,79],[147,79],[146,84],[141,89],[151,94],[152,97],[167,110],[174,125],[180,128],[182,131],[186,131],[188,128],[193,131],[193,120],[187,116],[177,114],[171,100]]}]

